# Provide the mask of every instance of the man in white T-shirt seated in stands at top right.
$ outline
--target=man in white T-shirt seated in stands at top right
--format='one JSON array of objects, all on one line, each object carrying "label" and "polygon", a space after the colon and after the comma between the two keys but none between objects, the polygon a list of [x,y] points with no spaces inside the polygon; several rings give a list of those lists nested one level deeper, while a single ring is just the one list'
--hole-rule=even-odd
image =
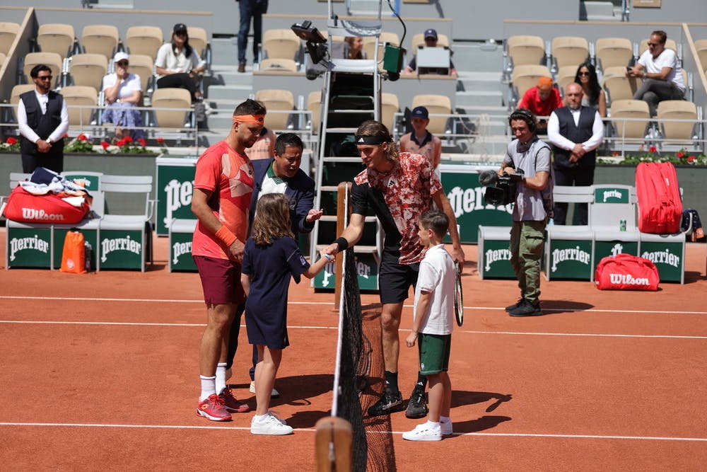
[{"label": "man in white T-shirt seated in stands at top right", "polygon": [[648,103],[650,116],[655,116],[661,100],[685,98],[685,82],[677,54],[672,49],[665,49],[665,40],[665,31],[650,33],[648,50],[641,54],[635,66],[626,69],[629,77],[643,77],[643,84],[633,94],[633,99]]}]

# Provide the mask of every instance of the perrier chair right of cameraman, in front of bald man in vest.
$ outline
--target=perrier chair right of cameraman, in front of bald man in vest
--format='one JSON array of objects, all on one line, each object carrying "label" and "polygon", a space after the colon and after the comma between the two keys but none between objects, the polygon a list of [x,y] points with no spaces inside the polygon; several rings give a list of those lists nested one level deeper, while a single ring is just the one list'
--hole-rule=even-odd
[{"label": "perrier chair right of cameraman, in front of bald man in vest", "polygon": [[[591,186],[574,187],[556,185],[552,196],[554,202],[591,203]],[[576,211],[576,205],[575,205]],[[568,219],[568,222],[569,221]],[[549,224],[546,228],[545,241],[545,278],[553,279],[592,279],[592,255],[594,253],[594,235],[591,229],[592,214],[588,215],[588,224]]]}]

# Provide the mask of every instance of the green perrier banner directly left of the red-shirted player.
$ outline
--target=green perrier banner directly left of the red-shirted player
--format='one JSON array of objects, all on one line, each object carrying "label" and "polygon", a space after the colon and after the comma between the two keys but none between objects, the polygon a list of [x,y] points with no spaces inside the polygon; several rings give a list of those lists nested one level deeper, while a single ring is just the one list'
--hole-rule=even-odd
[{"label": "green perrier banner directly left of the red-shirted player", "polygon": [[194,219],[192,192],[196,156],[158,157],[157,166],[157,219],[158,236],[169,234],[173,219]]}]

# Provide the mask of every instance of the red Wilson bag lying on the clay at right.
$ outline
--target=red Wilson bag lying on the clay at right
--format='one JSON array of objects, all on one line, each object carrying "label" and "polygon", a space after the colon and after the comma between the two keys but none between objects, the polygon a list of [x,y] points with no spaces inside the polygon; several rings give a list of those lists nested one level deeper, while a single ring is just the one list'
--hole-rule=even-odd
[{"label": "red Wilson bag lying on the clay at right", "polygon": [[637,255],[609,255],[597,264],[594,283],[600,290],[658,290],[658,268]]}]

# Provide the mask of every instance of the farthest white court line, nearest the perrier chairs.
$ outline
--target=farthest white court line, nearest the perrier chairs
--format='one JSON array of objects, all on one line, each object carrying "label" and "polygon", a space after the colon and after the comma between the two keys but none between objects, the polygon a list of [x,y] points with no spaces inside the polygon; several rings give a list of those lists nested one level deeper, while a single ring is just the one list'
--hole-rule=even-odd
[{"label": "farthest white court line, nearest the perrier chairs", "polygon": [[[62,300],[62,301],[128,301],[146,303],[196,303],[203,304],[204,300],[173,300],[173,299],[118,299],[118,298],[93,298],[93,297],[18,297],[13,295],[0,295],[1,299],[8,300]],[[331,305],[331,301],[288,301],[289,305]],[[412,308],[412,305],[404,305]],[[465,310],[503,310],[499,306],[464,306]],[[560,312],[585,312],[585,313],[668,313],[671,315],[707,315],[707,311],[667,311],[667,310],[610,310],[610,309],[576,309],[576,308],[548,308],[544,311]]]}]

